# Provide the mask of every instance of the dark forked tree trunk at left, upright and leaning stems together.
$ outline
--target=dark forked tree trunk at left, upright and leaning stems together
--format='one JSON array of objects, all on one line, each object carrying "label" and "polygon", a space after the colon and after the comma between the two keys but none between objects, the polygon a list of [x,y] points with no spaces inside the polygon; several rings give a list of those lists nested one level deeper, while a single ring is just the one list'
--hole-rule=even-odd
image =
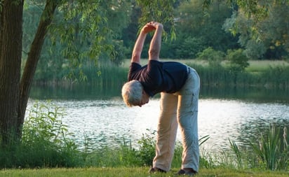
[{"label": "dark forked tree trunk at left, upright and leaning stems together", "polygon": [[58,5],[47,0],[20,82],[23,1],[2,1],[0,29],[0,145],[19,141],[41,48]]}]

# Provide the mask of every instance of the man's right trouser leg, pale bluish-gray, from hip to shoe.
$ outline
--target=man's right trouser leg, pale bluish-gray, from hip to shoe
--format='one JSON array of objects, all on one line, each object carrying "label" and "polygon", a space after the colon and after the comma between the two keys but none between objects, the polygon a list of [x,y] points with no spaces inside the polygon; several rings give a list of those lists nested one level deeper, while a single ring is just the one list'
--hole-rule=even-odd
[{"label": "man's right trouser leg, pale bluish-gray, from hip to shoe", "polygon": [[198,137],[198,101],[200,80],[194,71],[180,90],[177,108],[177,121],[182,134],[182,169],[199,171],[199,137]]}]

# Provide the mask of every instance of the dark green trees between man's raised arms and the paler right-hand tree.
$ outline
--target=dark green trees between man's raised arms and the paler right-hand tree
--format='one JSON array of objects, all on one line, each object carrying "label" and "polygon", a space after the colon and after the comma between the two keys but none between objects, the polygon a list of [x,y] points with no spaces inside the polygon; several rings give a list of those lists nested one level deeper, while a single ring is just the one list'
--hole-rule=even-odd
[{"label": "dark green trees between man's raised arms and the paler right-hand tree", "polygon": [[208,47],[222,52],[238,47],[237,38],[222,29],[224,20],[231,15],[227,4],[214,1],[206,11],[201,6],[202,1],[184,1],[175,9],[177,38],[172,47],[163,52],[165,57],[173,50],[177,50],[173,58],[186,59],[195,58],[198,52]]}]

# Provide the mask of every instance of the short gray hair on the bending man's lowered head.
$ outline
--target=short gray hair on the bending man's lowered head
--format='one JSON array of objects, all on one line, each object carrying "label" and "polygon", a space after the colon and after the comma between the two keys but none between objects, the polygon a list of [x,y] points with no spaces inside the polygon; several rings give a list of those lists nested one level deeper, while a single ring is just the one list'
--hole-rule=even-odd
[{"label": "short gray hair on the bending man's lowered head", "polygon": [[128,107],[135,106],[142,100],[142,84],[138,80],[130,80],[123,85],[121,95]]}]

